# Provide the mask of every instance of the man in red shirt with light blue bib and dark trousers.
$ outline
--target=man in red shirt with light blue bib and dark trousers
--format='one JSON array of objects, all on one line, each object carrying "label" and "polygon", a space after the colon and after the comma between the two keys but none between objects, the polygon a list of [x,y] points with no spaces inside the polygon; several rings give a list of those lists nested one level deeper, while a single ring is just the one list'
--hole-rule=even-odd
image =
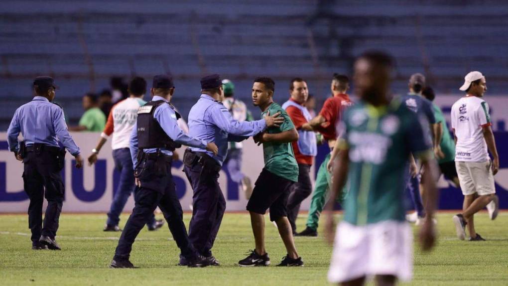
[{"label": "man in red shirt with light blue bib and dark trousers", "polygon": [[282,105],[282,108],[289,114],[296,130],[298,131],[298,141],[291,142],[296,162],[298,163],[298,182],[293,185],[291,194],[288,198],[288,220],[296,233],[296,218],[300,210],[300,204],[312,193],[312,183],[310,182],[310,167],[317,154],[316,137],[312,131],[302,129],[303,124],[312,119],[309,111],[305,107],[305,102],[309,96],[307,83],[301,78],[294,78],[289,86],[290,98]]}]

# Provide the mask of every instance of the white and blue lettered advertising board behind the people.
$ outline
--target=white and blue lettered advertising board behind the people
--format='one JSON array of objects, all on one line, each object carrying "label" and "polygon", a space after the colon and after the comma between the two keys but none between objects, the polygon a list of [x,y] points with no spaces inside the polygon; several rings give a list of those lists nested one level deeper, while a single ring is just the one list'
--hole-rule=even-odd
[{"label": "white and blue lettered advertising board behind the people", "polygon": [[[452,104],[459,97],[439,97],[436,103],[443,109],[449,119]],[[496,145],[500,156],[500,170],[495,176],[496,192],[500,199],[501,208],[508,209],[508,132],[505,129],[508,121],[508,97],[486,98],[491,107],[491,118],[495,131]],[[89,155],[90,150],[96,145],[98,133],[73,133],[83,155]],[[0,133],[0,213],[22,213],[28,207],[28,198],[23,191],[23,165],[16,161],[8,150],[6,133]],[[178,150],[180,158],[183,157],[184,149]],[[326,145],[321,145],[314,166],[323,162],[328,151]],[[263,149],[257,146],[251,139],[244,144],[242,170],[254,182],[263,168]],[[93,167],[84,166],[83,169],[73,167],[71,155],[66,157],[66,166],[62,170],[65,178],[66,194],[63,204],[64,212],[107,212],[113,198],[113,190],[118,183],[118,172],[114,169],[111,155],[111,145],[105,144],[99,154],[99,161]],[[190,210],[192,204],[192,188],[184,173],[181,161],[174,162],[172,172],[177,186],[178,197],[184,210]],[[316,169],[311,170],[315,175]],[[313,178],[314,176],[312,176]],[[228,211],[245,210],[246,200],[243,192],[230,178],[227,171],[220,172],[219,183],[227,200]],[[438,183],[440,187],[440,209],[461,209],[462,194],[459,189],[453,187],[442,177]],[[302,210],[307,210],[310,198],[302,203]],[[132,210],[134,200],[131,198],[125,207],[126,211]]]}]

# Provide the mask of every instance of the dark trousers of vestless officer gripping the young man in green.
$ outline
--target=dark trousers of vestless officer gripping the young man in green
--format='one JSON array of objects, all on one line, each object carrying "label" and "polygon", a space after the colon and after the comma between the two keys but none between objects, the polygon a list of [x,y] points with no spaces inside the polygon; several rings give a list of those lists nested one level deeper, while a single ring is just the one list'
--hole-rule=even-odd
[{"label": "dark trousers of vestless officer gripping the young man in green", "polygon": [[218,171],[202,169],[196,163],[183,170],[194,190],[189,239],[202,256],[209,257],[226,210],[226,200],[217,181]]}]

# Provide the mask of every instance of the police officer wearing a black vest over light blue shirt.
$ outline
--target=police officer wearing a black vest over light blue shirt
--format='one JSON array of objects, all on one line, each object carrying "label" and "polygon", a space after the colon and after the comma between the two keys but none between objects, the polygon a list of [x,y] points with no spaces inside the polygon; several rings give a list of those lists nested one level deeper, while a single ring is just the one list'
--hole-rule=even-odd
[{"label": "police officer wearing a black vest over light blue shirt", "polygon": [[[171,175],[173,151],[180,144],[202,148],[217,154],[217,146],[186,135],[179,127],[180,117],[170,104],[175,91],[173,80],[167,75],[153,78],[152,100],[140,107],[134,125],[130,149],[136,185],[139,186],[134,210],[127,220],[118,241],[111,268],[134,268],[129,261],[132,244],[146,221],[158,206],[168,222],[173,239],[189,267],[207,266],[189,242],[183,223],[183,213]],[[210,140],[209,140],[210,141]]]}]

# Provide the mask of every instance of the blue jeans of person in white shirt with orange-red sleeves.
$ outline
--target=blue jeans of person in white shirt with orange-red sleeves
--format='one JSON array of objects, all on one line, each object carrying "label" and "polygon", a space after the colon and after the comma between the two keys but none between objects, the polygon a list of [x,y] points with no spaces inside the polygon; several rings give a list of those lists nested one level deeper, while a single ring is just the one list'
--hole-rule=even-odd
[{"label": "blue jeans of person in white shirt with orange-red sleeves", "polygon": [[[115,167],[120,171],[120,182],[111,202],[111,207],[108,212],[108,220],[106,224],[108,226],[117,226],[120,222],[120,214],[127,203],[127,200],[133,192],[134,200],[137,197],[136,185],[134,184],[134,170],[132,166],[131,151],[129,148],[120,148],[113,150],[113,160],[115,161]],[[147,225],[153,225],[155,223],[155,215],[151,215],[148,219]]]}]

